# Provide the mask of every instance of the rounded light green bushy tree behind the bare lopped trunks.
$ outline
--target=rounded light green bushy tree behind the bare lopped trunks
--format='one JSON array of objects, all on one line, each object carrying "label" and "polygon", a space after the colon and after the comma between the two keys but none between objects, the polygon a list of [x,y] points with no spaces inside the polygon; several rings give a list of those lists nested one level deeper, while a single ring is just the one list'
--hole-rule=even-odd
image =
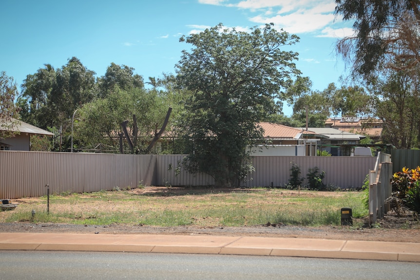
[{"label": "rounded light green bushy tree behind the bare lopped trunks", "polygon": [[143,153],[162,127],[167,110],[166,101],[154,91],[115,87],[107,97],[97,98],[79,110],[74,125],[74,148],[117,152],[119,135],[123,132],[121,123],[127,120],[134,152]]}]

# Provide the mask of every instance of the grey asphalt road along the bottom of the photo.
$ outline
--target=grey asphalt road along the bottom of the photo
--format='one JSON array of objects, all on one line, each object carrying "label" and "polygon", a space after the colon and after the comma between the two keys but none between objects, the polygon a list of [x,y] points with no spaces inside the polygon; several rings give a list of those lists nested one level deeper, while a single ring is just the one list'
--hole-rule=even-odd
[{"label": "grey asphalt road along the bottom of the photo", "polygon": [[0,251],[0,280],[413,280],[416,262],[267,256]]}]

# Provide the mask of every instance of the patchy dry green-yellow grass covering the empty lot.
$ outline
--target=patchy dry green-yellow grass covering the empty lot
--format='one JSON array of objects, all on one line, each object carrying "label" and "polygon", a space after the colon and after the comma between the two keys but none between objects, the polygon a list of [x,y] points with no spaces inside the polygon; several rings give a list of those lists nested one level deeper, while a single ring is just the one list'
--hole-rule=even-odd
[{"label": "patchy dry green-yellow grass covering the empty lot", "polygon": [[[145,187],[122,191],[63,194],[14,200],[19,206],[0,213],[0,222],[67,224],[146,224],[157,226],[243,226],[340,224],[340,208],[367,214],[361,192],[286,189]],[[37,214],[32,217],[34,209]]]}]

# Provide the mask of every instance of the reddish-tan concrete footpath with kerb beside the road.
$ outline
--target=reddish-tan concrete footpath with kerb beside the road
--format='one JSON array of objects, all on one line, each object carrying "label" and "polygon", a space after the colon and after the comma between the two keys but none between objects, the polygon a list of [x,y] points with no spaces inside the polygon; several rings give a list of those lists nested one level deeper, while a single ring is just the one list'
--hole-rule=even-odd
[{"label": "reddish-tan concrete footpath with kerb beside the road", "polygon": [[420,243],[201,235],[0,233],[0,250],[231,254],[420,262]]}]

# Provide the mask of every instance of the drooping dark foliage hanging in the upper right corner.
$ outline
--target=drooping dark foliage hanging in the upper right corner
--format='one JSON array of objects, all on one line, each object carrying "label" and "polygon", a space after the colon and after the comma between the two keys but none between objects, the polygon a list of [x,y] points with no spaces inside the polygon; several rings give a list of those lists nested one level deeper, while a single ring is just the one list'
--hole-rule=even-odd
[{"label": "drooping dark foliage hanging in the upper right corner", "polygon": [[371,79],[382,69],[409,70],[420,59],[419,0],[336,0],[336,16],[354,20],[355,35],[337,51],[352,64],[353,77]]}]

